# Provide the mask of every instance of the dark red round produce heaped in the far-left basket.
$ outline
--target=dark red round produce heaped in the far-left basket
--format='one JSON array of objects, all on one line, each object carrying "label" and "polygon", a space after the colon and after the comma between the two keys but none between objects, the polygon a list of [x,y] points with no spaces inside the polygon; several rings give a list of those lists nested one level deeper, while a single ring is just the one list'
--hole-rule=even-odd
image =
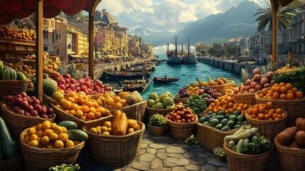
[{"label": "dark red round produce heaped in the far-left basket", "polygon": [[28,96],[25,92],[16,95],[7,95],[6,106],[14,113],[38,118],[53,118],[52,108],[43,105],[35,96]]}]

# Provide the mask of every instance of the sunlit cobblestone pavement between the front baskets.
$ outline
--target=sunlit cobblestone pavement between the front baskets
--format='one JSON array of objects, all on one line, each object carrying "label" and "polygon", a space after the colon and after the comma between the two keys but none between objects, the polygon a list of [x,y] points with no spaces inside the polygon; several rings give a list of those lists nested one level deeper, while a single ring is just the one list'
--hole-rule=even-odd
[{"label": "sunlit cobblestone pavement between the front baskets", "polygon": [[210,150],[200,145],[186,145],[181,140],[173,140],[168,133],[154,136],[148,127],[143,135],[138,157],[129,165],[109,167],[97,165],[90,160],[90,154],[83,149],[77,163],[81,170],[228,170],[227,162],[219,162]]}]

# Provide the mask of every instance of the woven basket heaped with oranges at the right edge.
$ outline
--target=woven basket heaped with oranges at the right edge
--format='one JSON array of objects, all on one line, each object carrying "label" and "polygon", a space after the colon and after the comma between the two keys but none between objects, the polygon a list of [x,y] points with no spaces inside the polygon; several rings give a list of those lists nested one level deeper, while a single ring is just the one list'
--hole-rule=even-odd
[{"label": "woven basket heaped with oranges at the right edge", "polygon": [[286,127],[295,125],[296,118],[304,117],[305,98],[291,83],[275,83],[271,88],[263,88],[255,95],[257,103],[272,102],[288,113]]}]

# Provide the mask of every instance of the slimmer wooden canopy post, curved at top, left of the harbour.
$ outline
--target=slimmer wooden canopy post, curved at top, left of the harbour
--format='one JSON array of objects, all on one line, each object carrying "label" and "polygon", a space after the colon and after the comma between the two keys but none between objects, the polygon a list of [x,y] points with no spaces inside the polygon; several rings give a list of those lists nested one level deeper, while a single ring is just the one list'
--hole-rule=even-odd
[{"label": "slimmer wooden canopy post, curved at top, left of the harbour", "polygon": [[95,4],[92,6],[91,11],[89,12],[89,76],[94,79],[95,77],[95,10],[97,5],[100,4],[102,0],[96,0]]}]

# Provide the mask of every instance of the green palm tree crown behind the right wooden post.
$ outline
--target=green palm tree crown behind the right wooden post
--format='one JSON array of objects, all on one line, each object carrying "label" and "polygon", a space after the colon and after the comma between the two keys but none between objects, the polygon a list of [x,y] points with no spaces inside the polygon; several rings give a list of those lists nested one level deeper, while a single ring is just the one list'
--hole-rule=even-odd
[{"label": "green palm tree crown behind the right wooden post", "polygon": [[[272,8],[268,1],[265,1],[267,8],[257,9],[255,16],[258,16],[255,22],[258,22],[257,31],[262,32],[268,26],[268,30],[272,30]],[[279,9],[277,10],[277,28],[280,32],[287,30],[291,25],[291,20],[296,14],[299,13],[299,8],[296,4],[289,4],[289,6],[281,6],[279,4]]]}]

